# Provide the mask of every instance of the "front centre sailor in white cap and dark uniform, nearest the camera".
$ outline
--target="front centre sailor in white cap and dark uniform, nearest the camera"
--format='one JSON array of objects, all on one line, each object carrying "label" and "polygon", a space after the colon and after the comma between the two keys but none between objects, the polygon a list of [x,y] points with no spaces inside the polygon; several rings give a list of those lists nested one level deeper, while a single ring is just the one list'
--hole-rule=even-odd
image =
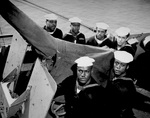
[{"label": "front centre sailor in white cap and dark uniform, nearest the camera", "polygon": [[64,95],[66,118],[92,118],[107,115],[104,114],[106,113],[104,88],[99,86],[91,76],[94,62],[95,60],[88,56],[76,59],[75,74],[58,85],[55,97]]}]

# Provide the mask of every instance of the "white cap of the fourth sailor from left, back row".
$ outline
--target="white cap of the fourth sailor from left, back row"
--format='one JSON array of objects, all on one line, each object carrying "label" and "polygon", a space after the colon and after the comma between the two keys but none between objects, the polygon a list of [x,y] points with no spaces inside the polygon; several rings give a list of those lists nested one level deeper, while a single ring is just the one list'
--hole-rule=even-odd
[{"label": "white cap of the fourth sailor from left, back row", "polygon": [[130,33],[130,29],[127,27],[120,27],[115,31],[115,33],[117,34],[117,36],[124,37]]}]

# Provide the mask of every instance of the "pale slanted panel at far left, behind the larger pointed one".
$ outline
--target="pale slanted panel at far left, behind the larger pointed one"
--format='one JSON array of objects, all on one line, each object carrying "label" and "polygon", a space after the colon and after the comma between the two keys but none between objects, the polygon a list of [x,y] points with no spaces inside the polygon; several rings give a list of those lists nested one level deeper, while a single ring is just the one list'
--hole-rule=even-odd
[{"label": "pale slanted panel at far left, behind the larger pointed one", "polygon": [[26,48],[27,43],[25,40],[18,33],[14,34],[3,71],[3,78],[6,78],[15,68],[17,68],[19,73]]}]

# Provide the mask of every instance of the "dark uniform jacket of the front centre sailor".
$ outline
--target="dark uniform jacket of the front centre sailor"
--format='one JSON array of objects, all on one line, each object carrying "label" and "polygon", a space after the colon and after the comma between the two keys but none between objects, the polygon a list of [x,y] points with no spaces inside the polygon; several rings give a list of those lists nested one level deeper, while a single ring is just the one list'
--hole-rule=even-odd
[{"label": "dark uniform jacket of the front centre sailor", "polygon": [[90,84],[76,93],[76,77],[70,76],[58,85],[55,96],[64,95],[67,118],[96,118],[107,116],[104,88],[92,79]]}]

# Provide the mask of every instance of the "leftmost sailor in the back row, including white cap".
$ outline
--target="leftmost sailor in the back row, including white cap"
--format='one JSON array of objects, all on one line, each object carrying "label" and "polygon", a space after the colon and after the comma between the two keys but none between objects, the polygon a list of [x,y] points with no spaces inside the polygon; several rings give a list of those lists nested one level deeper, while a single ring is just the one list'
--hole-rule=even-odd
[{"label": "leftmost sailor in the back row, including white cap", "polygon": [[43,29],[49,32],[53,37],[62,39],[63,32],[57,28],[57,16],[55,14],[47,14],[44,17],[46,19],[46,25]]}]

